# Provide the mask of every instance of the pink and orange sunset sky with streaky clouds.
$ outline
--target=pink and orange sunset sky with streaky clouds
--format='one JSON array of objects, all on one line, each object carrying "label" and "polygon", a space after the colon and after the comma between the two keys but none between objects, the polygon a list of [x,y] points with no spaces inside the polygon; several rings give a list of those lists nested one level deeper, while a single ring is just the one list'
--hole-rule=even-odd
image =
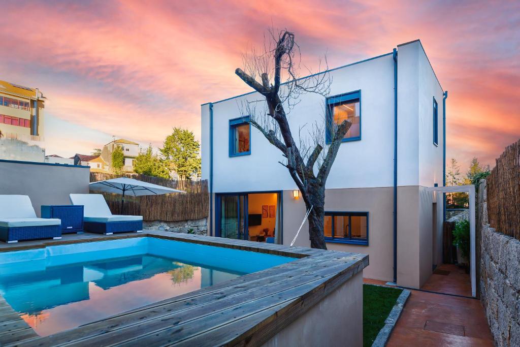
[{"label": "pink and orange sunset sky with streaky clouds", "polygon": [[2,1],[0,80],[38,87],[47,154],[112,135],[200,136],[200,104],[249,92],[234,71],[272,24],[330,67],[420,38],[447,99],[447,158],[493,166],[520,137],[520,2]]}]

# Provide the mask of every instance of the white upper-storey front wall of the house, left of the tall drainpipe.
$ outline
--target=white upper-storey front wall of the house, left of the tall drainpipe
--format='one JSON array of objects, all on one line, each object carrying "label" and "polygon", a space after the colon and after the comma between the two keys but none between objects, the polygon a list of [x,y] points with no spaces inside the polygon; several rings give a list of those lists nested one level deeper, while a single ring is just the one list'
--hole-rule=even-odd
[{"label": "white upper-storey front wall of the house, left of the tall drainpipe", "polygon": [[[330,95],[361,91],[361,140],[343,143],[327,181],[327,188],[391,186],[393,180],[394,75],[392,55],[331,71]],[[252,128],[251,155],[229,157],[229,120],[240,117],[243,100],[258,94],[213,104],[214,191],[294,189],[278,161],[283,157]],[[320,95],[302,97],[289,115],[293,136],[298,127],[324,120]],[[310,126],[309,126],[310,130]],[[302,132],[306,134],[306,132]],[[209,177],[209,105],[202,106],[202,177]],[[276,179],[273,179],[276,177]]]}]

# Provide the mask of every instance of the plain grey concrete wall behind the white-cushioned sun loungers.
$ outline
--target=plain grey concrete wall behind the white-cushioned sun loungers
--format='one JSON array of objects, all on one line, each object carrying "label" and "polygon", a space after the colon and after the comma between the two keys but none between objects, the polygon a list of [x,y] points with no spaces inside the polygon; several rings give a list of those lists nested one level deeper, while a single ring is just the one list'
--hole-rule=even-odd
[{"label": "plain grey concrete wall behind the white-cushioned sun loungers", "polygon": [[41,205],[69,205],[69,194],[88,194],[89,168],[0,161],[0,194],[28,195],[36,215]]}]

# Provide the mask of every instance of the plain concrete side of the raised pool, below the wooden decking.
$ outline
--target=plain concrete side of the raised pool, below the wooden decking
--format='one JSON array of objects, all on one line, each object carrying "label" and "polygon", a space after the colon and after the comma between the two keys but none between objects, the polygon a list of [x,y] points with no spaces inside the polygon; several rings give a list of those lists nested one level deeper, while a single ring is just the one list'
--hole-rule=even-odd
[{"label": "plain concrete side of the raised pool, below the wooden decking", "polygon": [[265,347],[362,346],[362,273],[317,303],[267,341]]}]

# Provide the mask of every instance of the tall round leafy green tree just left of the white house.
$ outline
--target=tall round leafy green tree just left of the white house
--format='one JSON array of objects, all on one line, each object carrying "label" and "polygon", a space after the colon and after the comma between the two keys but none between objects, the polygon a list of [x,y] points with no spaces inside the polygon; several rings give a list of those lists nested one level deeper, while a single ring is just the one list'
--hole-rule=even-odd
[{"label": "tall round leafy green tree just left of the white house", "polygon": [[166,136],[160,151],[179,179],[191,179],[193,175],[200,174],[200,143],[193,132],[174,127],[172,134]]}]

